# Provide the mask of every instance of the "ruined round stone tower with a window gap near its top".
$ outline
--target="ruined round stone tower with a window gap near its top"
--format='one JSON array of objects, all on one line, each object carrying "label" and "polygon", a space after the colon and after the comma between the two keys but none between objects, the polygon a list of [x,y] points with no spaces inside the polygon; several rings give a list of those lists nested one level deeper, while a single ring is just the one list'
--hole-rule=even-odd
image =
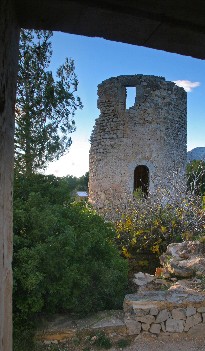
[{"label": "ruined round stone tower with a window gap near its top", "polygon": [[[136,90],[130,108],[128,87]],[[95,208],[112,211],[138,188],[147,195],[159,186],[170,187],[173,172],[183,173],[187,160],[183,88],[163,77],[110,78],[98,86],[98,108],[89,166],[89,200]]]}]

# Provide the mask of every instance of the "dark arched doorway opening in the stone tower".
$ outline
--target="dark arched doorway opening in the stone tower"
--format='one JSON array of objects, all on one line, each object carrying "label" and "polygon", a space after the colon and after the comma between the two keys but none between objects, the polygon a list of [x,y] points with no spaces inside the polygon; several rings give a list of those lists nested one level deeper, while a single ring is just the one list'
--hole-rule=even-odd
[{"label": "dark arched doorway opening in the stone tower", "polygon": [[134,191],[142,190],[147,197],[149,192],[149,168],[145,165],[139,165],[134,170]]}]

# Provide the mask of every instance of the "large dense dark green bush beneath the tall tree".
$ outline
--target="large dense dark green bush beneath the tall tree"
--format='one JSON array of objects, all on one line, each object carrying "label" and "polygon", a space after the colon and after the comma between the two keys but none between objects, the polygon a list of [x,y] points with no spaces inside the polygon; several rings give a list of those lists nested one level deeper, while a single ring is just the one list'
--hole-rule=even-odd
[{"label": "large dense dark green bush beneath the tall tree", "polygon": [[66,179],[15,177],[14,315],[118,308],[127,264],[114,231],[88,206],[71,204]]}]

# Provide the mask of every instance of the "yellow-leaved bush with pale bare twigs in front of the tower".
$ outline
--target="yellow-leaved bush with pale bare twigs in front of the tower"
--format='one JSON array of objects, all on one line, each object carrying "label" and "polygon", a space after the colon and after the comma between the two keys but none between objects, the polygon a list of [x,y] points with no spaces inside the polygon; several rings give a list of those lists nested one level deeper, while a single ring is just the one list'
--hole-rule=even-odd
[{"label": "yellow-leaved bush with pale bare twigs in front of the tower", "polygon": [[138,259],[139,254],[145,254],[153,260],[168,244],[205,234],[201,195],[183,188],[180,180],[180,176],[172,179],[172,192],[159,188],[147,198],[140,191],[135,194],[127,212],[115,223],[116,243],[124,257]]}]

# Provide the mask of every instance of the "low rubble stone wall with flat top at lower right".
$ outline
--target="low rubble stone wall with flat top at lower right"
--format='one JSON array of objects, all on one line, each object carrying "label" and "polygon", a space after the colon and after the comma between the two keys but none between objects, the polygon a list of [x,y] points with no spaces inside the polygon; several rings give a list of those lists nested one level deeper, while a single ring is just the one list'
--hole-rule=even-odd
[{"label": "low rubble stone wall with flat top at lower right", "polygon": [[205,294],[155,291],[127,295],[124,312],[129,335],[141,332],[194,335],[196,328],[205,332]]}]

